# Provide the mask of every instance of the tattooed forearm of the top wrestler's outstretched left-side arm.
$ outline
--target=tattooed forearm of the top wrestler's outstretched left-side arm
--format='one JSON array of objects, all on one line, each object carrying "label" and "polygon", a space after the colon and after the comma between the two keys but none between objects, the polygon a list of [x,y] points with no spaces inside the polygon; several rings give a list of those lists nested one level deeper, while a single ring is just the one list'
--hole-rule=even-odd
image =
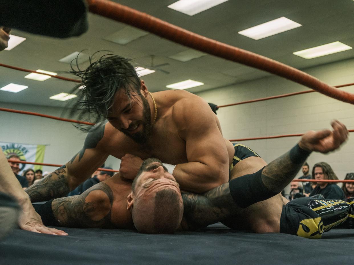
[{"label": "tattooed forearm of the top wrestler's outstretched left-side arm", "polygon": [[39,182],[27,188],[25,192],[27,192],[32,202],[47,201],[65,196],[69,192],[66,173],[66,166],[63,165],[56,171],[42,178]]}]

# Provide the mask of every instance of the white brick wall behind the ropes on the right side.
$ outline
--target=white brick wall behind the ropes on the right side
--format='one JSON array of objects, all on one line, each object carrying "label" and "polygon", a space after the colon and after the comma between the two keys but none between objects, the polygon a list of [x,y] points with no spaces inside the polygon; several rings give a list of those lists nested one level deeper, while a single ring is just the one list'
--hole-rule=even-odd
[{"label": "white brick wall behind the ropes on the right side", "polygon": [[[354,59],[304,71],[332,86],[354,83]],[[354,93],[354,86],[340,89]],[[225,105],[303,90],[309,88],[278,76],[271,76],[200,92],[197,95],[207,102]],[[348,129],[354,129],[354,106],[317,92],[223,107],[217,113],[226,139],[305,133],[308,130],[330,128],[333,119],[340,120]],[[310,170],[314,163],[326,161],[333,167],[339,179],[344,179],[347,172],[354,172],[354,133],[350,134],[349,141],[340,151],[328,155],[313,153],[308,159]],[[242,143],[253,148],[269,163],[287,152],[298,140],[299,137],[286,137]],[[297,176],[301,175],[300,171]]]}]

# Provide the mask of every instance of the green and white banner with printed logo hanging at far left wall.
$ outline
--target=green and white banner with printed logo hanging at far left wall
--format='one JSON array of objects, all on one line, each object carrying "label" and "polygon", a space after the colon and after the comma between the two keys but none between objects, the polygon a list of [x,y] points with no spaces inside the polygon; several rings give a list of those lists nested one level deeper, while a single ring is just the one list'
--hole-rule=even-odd
[{"label": "green and white banner with printed logo hanging at far left wall", "polygon": [[[8,155],[15,154],[18,155],[22,161],[43,163],[45,145],[27,145],[23,143],[0,142],[0,146],[6,157]],[[29,168],[32,168],[33,170],[42,170],[42,166],[39,165],[20,164],[21,173],[23,170]],[[19,173],[19,175],[21,175],[21,173]]]}]

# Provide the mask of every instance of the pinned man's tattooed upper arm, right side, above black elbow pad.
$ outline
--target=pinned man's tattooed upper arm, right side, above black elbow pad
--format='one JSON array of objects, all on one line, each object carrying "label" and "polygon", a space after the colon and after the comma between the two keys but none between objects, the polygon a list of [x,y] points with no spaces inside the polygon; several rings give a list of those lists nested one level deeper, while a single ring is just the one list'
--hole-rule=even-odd
[{"label": "pinned man's tattooed upper arm, right side, above black elbow pad", "polygon": [[229,183],[216,187],[204,195],[183,192],[182,198],[183,215],[189,230],[220,222],[240,210],[230,194]]}]

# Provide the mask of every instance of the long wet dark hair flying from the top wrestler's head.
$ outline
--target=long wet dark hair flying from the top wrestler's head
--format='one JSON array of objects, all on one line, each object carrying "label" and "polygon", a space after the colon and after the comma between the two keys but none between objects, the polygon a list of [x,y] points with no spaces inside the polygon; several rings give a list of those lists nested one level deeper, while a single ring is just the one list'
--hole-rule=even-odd
[{"label": "long wet dark hair flying from the top wrestler's head", "polygon": [[[78,95],[76,102],[70,106],[70,116],[76,116],[79,120],[98,123],[107,117],[110,107],[113,105],[116,92],[123,89],[130,95],[141,94],[141,81],[135,68],[129,63],[130,59],[115,54],[105,54],[98,60],[92,61],[90,65],[81,70],[78,65],[72,63],[71,68],[74,75],[81,78],[82,82],[76,86],[72,94]],[[79,56],[79,55],[78,55]],[[81,89],[79,89],[81,88]],[[89,131],[91,126],[76,126],[82,131]]]}]

